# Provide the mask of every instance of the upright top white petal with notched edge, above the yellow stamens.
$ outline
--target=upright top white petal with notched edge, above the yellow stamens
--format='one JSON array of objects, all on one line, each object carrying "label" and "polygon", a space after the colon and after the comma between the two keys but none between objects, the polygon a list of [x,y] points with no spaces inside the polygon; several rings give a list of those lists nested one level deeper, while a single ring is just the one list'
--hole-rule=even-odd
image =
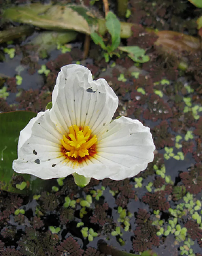
[{"label": "upright top white petal with notched edge, above the yellow stamens", "polygon": [[89,69],[72,64],[59,72],[52,102],[50,117],[60,132],[68,133],[76,124],[90,126],[96,134],[110,123],[118,97],[104,79],[93,81]]}]

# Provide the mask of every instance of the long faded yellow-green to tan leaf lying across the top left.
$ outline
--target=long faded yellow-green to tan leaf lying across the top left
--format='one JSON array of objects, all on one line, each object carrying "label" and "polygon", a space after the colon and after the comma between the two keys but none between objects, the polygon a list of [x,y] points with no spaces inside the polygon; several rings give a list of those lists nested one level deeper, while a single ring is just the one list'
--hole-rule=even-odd
[{"label": "long faded yellow-green to tan leaf lying across the top left", "polygon": [[[2,18],[48,30],[68,29],[90,34],[86,17],[89,20],[93,20],[93,18],[86,14],[87,10],[85,8],[82,8],[83,16],[78,13],[80,9],[76,11],[73,9],[74,7],[35,3],[5,9]],[[84,15],[86,16],[84,17]]]}]

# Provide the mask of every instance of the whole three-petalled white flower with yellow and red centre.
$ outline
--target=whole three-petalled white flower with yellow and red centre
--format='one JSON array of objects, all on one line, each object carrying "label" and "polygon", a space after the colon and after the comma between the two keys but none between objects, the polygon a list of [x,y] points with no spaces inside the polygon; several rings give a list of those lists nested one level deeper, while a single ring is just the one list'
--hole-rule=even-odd
[{"label": "whole three-petalled white flower with yellow and red centre", "polygon": [[51,110],[39,112],[20,132],[16,172],[122,180],[153,160],[150,129],[123,116],[111,122],[118,97],[104,79],[93,81],[86,67],[62,67],[52,102]]}]

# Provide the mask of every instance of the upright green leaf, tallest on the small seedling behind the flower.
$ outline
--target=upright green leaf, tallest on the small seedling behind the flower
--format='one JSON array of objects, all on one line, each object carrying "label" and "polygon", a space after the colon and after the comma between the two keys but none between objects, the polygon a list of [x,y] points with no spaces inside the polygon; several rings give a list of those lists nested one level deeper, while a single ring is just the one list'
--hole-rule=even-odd
[{"label": "upright green leaf, tallest on the small seedling behind the flower", "polygon": [[116,15],[109,11],[106,16],[105,24],[112,37],[111,51],[114,51],[115,49],[117,49],[121,41],[121,23],[117,19]]}]

